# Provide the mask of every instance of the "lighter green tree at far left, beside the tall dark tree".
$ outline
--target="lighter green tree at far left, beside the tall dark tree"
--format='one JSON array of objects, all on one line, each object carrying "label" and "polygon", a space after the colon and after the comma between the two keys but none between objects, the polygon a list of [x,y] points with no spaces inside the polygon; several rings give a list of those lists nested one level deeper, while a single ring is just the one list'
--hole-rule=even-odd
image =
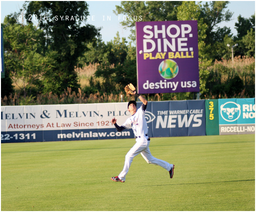
[{"label": "lighter green tree at far left, beside the tall dark tree", "polygon": [[18,86],[17,80],[22,82],[20,89],[26,98],[28,93],[33,95],[41,89],[43,66],[49,63],[49,58],[43,55],[43,32],[32,23],[20,24],[15,17],[17,14],[8,15],[2,23],[4,65],[6,73]]}]

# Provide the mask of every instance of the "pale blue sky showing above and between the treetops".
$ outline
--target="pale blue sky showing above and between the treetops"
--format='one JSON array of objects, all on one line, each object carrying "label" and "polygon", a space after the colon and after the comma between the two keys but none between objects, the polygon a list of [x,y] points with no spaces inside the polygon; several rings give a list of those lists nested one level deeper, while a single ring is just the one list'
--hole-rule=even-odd
[{"label": "pale blue sky showing above and between the treetops", "polygon": [[[5,16],[18,12],[25,1],[1,1],[1,23]],[[116,33],[119,32],[121,37],[125,37],[128,41],[130,34],[129,29],[124,29],[121,25],[121,21],[126,17],[124,15],[117,16],[113,13],[115,5],[121,5],[121,1],[87,1],[89,4],[90,20],[88,24],[94,25],[95,27],[102,27],[101,35],[102,40],[106,43],[114,39]],[[202,1],[204,4],[205,1]],[[228,4],[228,10],[233,12],[232,20],[229,22],[222,22],[218,26],[227,26],[231,28],[233,35],[237,34],[235,29],[235,23],[237,17],[249,18],[255,14],[255,1],[230,1]],[[108,19],[109,18],[109,19]]]}]

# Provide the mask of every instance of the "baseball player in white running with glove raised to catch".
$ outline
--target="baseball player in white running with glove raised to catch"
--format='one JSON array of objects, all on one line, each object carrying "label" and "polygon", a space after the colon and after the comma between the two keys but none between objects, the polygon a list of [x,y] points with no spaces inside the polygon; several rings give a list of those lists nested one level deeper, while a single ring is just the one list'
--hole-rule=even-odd
[{"label": "baseball player in white running with glove raised to catch", "polygon": [[112,177],[113,181],[125,182],[126,175],[128,173],[129,167],[133,158],[141,153],[142,157],[146,160],[147,163],[151,163],[154,165],[160,165],[165,168],[169,174],[170,178],[173,177],[173,169],[174,164],[169,164],[165,161],[160,159],[154,158],[149,150],[149,143],[150,138],[147,136],[147,124],[145,118],[146,112],[146,105],[147,100],[143,98],[141,95],[137,94],[135,91],[135,87],[130,83],[126,86],[125,91],[129,94],[135,95],[142,101],[142,106],[137,110],[136,101],[129,101],[128,102],[128,111],[131,114],[131,117],[126,120],[126,122],[122,126],[118,126],[116,124],[116,119],[113,118],[111,122],[114,124],[115,128],[118,131],[122,131],[125,129],[132,128],[135,137],[136,137],[136,144],[128,151],[126,158],[125,158],[125,165],[123,171],[116,177]]}]

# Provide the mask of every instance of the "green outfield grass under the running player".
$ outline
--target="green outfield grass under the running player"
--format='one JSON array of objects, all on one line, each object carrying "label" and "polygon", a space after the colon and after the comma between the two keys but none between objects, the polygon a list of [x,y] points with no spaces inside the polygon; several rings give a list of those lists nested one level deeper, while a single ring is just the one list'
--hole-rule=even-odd
[{"label": "green outfield grass under the running player", "polygon": [[1,144],[2,211],[255,211],[255,135],[151,138],[160,166],[134,158],[135,139]]}]

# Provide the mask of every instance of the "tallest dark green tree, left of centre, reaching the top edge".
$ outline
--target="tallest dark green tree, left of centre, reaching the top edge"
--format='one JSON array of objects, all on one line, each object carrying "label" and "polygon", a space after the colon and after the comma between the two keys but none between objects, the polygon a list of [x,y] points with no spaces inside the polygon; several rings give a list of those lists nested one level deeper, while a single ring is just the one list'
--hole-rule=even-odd
[{"label": "tallest dark green tree, left of centre, reaching the top edge", "polygon": [[99,35],[99,29],[94,26],[81,26],[89,16],[88,4],[85,1],[28,1],[24,8],[29,22],[30,15],[42,19],[39,28],[46,34],[46,46],[57,53],[44,92],[61,94],[67,87],[77,92],[79,84],[74,67],[78,58],[88,50],[86,44]]}]

